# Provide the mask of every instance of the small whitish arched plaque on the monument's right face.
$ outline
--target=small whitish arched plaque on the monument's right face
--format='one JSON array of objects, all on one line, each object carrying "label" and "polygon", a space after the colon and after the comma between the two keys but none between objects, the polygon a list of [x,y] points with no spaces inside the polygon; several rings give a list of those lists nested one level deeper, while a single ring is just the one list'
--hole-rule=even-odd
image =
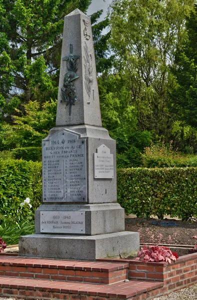
[{"label": "small whitish arched plaque on the monument's right face", "polygon": [[110,149],[102,144],[93,153],[94,178],[113,178],[113,154]]}]

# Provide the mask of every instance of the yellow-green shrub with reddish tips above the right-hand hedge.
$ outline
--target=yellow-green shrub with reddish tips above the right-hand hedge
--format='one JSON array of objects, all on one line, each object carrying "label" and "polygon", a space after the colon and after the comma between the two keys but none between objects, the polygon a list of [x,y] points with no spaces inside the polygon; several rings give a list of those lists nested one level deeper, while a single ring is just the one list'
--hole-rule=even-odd
[{"label": "yellow-green shrub with reddish tips above the right-hand hedge", "polygon": [[164,141],[159,141],[149,147],[145,147],[141,154],[144,167],[173,167],[173,166],[197,166],[197,155],[182,155],[178,149],[173,150],[172,140],[168,146]]}]

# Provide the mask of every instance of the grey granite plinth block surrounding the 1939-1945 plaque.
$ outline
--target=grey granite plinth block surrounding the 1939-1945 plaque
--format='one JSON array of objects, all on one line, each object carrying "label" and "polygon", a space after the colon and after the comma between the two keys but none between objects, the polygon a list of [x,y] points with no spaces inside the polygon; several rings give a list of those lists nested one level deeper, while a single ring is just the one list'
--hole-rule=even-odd
[{"label": "grey granite plinth block surrounding the 1939-1945 plaque", "polygon": [[[99,203],[99,204],[42,204],[35,211],[35,233],[42,233],[40,228],[41,213],[51,213],[58,215],[58,213],[64,213],[69,215],[71,212],[83,212],[84,213],[84,232],[75,232],[85,235],[95,235],[103,233],[118,232],[124,230],[124,209],[118,203]],[[51,219],[53,220],[53,219]],[[55,219],[54,219],[55,220]],[[75,219],[77,221],[77,219]],[[60,222],[60,220],[59,220]],[[58,222],[58,223],[59,223]],[[57,224],[57,226],[63,226]],[[84,228],[83,224],[78,225],[80,230]],[[57,228],[58,229],[58,228]],[[57,230],[55,229],[55,230]],[[60,228],[59,233],[74,233],[70,232],[68,228]],[[67,231],[66,231],[67,229]],[[53,229],[52,229],[53,230]],[[50,233],[53,231],[51,230]],[[47,231],[49,233],[49,231]],[[55,231],[57,233],[57,231]]]}]

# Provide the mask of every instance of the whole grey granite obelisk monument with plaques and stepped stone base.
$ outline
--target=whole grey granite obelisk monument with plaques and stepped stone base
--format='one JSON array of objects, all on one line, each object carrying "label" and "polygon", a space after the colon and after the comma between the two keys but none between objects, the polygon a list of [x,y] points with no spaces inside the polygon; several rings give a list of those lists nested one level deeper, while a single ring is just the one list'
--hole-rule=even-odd
[{"label": "whole grey granite obelisk monument with plaques and stepped stone base", "polygon": [[101,123],[90,18],[75,9],[64,19],[56,126],[42,140],[42,204],[19,255],[92,260],[138,249],[116,201],[115,140]]}]

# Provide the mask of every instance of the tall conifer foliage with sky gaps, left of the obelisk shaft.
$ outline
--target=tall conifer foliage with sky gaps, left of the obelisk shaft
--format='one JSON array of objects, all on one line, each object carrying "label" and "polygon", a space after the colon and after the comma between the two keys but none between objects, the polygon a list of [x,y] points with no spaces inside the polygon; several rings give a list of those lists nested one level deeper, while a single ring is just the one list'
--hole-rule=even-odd
[{"label": "tall conifer foliage with sky gaps, left of the obelisk shaft", "polygon": [[[57,96],[63,17],[90,0],[0,1],[0,107]],[[5,113],[7,112],[7,113]]]}]

